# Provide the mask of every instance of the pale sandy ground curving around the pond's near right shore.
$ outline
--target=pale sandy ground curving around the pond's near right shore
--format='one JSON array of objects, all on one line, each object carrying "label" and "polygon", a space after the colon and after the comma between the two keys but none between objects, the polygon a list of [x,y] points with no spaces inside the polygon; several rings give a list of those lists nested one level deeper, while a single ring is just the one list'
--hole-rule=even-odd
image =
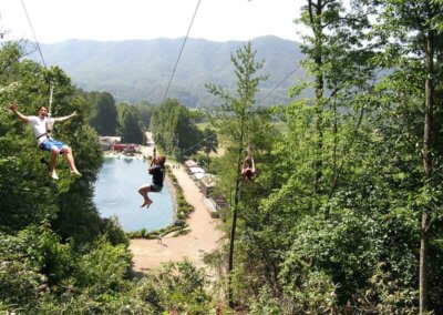
[{"label": "pale sandy ground curving around the pond's near right shore", "polygon": [[[143,146],[142,153],[152,155],[152,146]],[[162,263],[178,262],[185,257],[195,265],[203,266],[203,254],[215,250],[223,236],[217,228],[218,220],[210,217],[196,183],[183,166],[172,171],[183,189],[186,201],[195,209],[186,220],[190,232],[178,237],[166,235],[161,244],[157,240],[131,240],[130,250],[133,253],[135,272],[147,272]]]}]

